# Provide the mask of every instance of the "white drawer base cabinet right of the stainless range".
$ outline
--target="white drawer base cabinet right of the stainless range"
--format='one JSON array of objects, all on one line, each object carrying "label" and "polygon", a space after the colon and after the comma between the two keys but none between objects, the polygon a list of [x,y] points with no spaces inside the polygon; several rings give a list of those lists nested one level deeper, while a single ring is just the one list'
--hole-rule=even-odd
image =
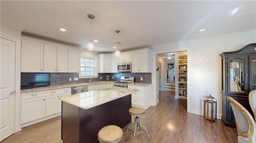
[{"label": "white drawer base cabinet right of the stainless range", "polygon": [[136,86],[128,84],[128,88],[140,90],[132,94],[132,106],[142,107],[144,109],[147,109],[150,106],[150,87],[151,85]]}]

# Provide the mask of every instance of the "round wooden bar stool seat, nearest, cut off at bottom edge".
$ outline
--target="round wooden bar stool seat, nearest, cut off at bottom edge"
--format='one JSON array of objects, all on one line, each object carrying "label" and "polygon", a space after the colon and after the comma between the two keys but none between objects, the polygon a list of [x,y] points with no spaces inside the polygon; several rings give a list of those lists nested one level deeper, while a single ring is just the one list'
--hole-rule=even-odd
[{"label": "round wooden bar stool seat, nearest, cut off at bottom edge", "polygon": [[100,143],[118,143],[123,137],[123,130],[116,125],[107,125],[98,132]]}]

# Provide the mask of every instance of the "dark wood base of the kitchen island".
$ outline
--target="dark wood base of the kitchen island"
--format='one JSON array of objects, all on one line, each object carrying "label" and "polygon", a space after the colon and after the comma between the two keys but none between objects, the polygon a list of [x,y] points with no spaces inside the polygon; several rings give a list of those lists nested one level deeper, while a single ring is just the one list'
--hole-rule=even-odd
[{"label": "dark wood base of the kitchen island", "polygon": [[86,110],[62,101],[63,143],[99,143],[97,135],[102,127],[124,129],[131,122],[131,105],[131,94]]}]

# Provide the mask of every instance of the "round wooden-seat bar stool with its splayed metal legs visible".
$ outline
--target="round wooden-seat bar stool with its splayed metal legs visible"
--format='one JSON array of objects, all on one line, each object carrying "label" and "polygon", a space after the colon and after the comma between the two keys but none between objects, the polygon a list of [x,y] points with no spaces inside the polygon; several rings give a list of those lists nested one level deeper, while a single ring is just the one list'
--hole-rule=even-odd
[{"label": "round wooden-seat bar stool with its splayed metal legs visible", "polygon": [[[128,133],[128,129],[130,129],[134,134],[133,134],[133,143],[135,143],[135,136],[140,134],[140,133],[147,133],[147,137],[148,137],[148,131],[147,129],[142,125],[140,124],[140,118],[138,116],[141,116],[143,115],[144,113],[146,112],[145,109],[143,108],[139,108],[139,107],[132,107],[129,109],[129,114],[130,115],[133,115],[133,116],[136,116],[134,118],[134,123],[132,123],[127,129],[126,129],[126,134]],[[132,127],[133,125],[135,125],[135,129],[134,127]],[[139,131],[138,133],[136,133],[136,128],[139,128]],[[148,137],[149,139],[149,137]]]}]

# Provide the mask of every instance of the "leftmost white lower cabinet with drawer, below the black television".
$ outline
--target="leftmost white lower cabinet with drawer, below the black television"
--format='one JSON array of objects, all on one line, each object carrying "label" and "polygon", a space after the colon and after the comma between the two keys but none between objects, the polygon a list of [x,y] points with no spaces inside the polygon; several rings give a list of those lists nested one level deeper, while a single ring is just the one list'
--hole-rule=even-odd
[{"label": "leftmost white lower cabinet with drawer, below the black television", "polygon": [[21,120],[26,123],[45,116],[45,91],[22,93]]}]

